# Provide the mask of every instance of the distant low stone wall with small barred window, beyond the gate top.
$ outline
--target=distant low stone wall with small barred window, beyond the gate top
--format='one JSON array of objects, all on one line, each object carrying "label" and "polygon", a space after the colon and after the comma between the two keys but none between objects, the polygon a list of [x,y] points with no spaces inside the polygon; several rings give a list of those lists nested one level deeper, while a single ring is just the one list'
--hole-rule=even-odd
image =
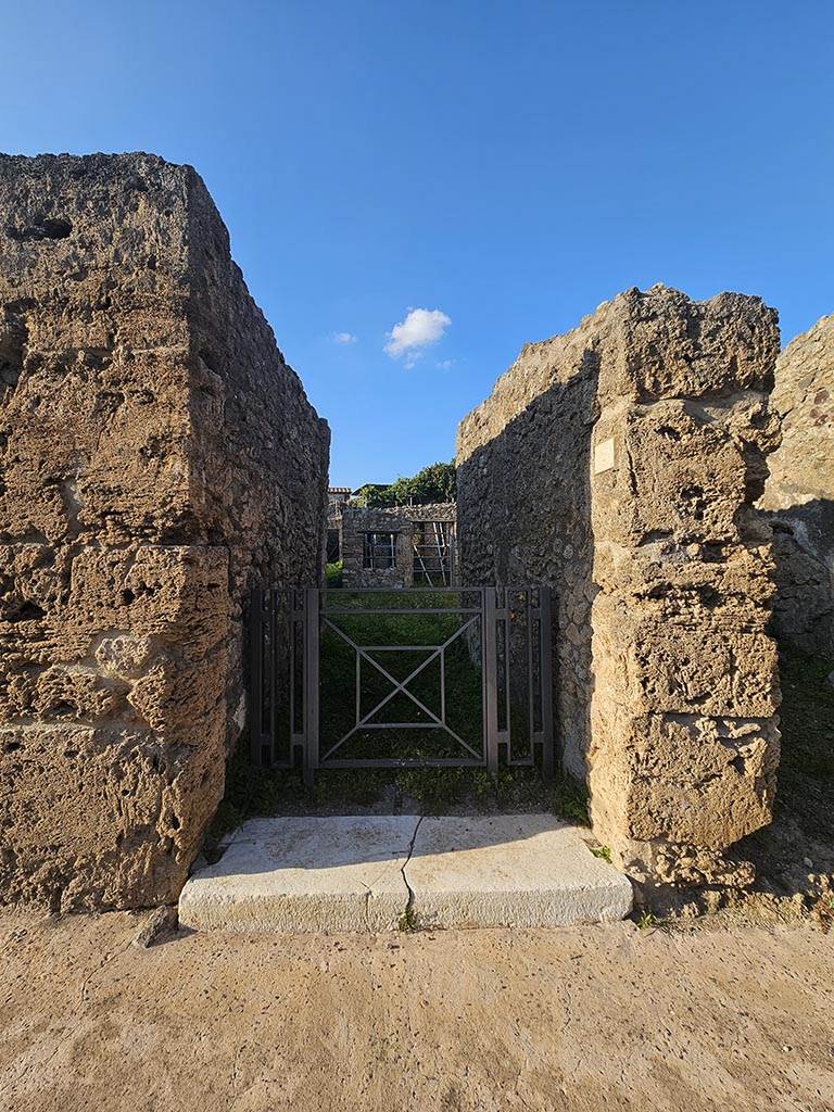
[{"label": "distant low stone wall with small barred window, beyond the gate top", "polygon": [[[342,583],[346,587],[410,587],[414,585],[414,526],[419,522],[449,522],[457,517],[455,503],[426,506],[345,506],[341,513]],[[395,533],[393,568],[365,567],[365,534]],[[454,567],[453,567],[454,575]]]}]

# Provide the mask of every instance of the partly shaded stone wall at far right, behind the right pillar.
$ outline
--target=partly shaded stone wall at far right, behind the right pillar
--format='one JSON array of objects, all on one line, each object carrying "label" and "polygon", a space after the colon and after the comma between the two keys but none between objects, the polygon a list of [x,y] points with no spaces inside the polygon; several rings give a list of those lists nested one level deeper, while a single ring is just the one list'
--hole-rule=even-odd
[{"label": "partly shaded stone wall at far right, behind the right pillar", "polygon": [[780,642],[834,656],[834,316],[776,360],[772,407],[782,445],[767,460],[759,505],[770,510]]}]

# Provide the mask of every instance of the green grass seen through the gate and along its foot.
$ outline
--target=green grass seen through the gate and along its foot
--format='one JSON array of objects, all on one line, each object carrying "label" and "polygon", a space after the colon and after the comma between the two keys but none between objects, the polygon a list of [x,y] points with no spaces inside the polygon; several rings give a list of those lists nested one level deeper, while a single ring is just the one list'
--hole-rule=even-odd
[{"label": "green grass seen through the gate and along its foot", "polygon": [[[340,564],[327,566],[328,587],[338,585]],[[466,594],[457,592],[379,592],[363,593],[335,589],[325,596],[324,614],[336,629],[324,627],[320,652],[320,741],[322,756],[356,721],[356,655],[345,636],[363,646],[396,645],[401,651],[371,649],[396,679],[403,682],[426,662],[428,647],[448,641],[470,615]],[[471,602],[469,602],[471,605]],[[363,609],[388,609],[394,613],[359,613]],[[419,613],[426,607],[439,613]],[[347,613],[335,613],[345,610]],[[351,613],[351,612],[357,613]],[[445,613],[448,612],[448,613]],[[341,633],[337,632],[341,631]],[[344,634],[345,636],[342,636]],[[445,653],[446,721],[476,753],[483,752],[483,678],[479,663],[473,658],[467,634],[461,632]],[[440,714],[439,661],[434,661],[409,681],[408,689],[435,714]],[[373,664],[361,661],[360,712],[370,709],[393,689]],[[526,692],[524,693],[526,696]],[[526,715],[510,705],[514,754],[529,752]],[[351,813],[385,800],[395,811],[418,808],[425,814],[441,814],[456,807],[469,811],[545,811],[560,818],[589,825],[587,793],[584,786],[567,778],[544,781],[536,767],[503,766],[493,776],[483,767],[420,767],[421,759],[466,757],[466,751],[446,734],[430,727],[425,714],[408,696],[395,695],[371,721],[396,724],[426,723],[425,728],[357,731],[341,745],[338,757],[356,759],[388,757],[415,762],[390,768],[322,768],[311,788],[297,772],[254,767],[248,743],[240,739],[227,766],[226,795],[210,831],[210,838],[222,837],[229,830],[256,815],[298,813],[301,808]]]}]

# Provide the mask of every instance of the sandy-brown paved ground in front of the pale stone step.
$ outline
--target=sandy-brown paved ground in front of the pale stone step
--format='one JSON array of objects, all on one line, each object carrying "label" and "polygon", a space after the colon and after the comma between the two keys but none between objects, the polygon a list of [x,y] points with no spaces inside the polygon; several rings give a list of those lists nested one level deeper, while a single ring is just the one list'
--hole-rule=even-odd
[{"label": "sandy-brown paved ground in front of the pale stone step", "polygon": [[222,936],[0,916],[0,1109],[831,1112],[810,925]]}]

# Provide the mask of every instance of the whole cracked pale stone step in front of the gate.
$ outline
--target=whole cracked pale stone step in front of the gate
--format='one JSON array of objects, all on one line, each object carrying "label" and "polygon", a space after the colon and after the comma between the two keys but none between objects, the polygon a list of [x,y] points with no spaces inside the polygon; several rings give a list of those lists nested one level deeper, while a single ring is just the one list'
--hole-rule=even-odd
[{"label": "whole cracked pale stone step in front of the gate", "polygon": [[625,917],[632,886],[553,815],[254,818],[195,872],[195,930],[326,933],[566,926]]}]

